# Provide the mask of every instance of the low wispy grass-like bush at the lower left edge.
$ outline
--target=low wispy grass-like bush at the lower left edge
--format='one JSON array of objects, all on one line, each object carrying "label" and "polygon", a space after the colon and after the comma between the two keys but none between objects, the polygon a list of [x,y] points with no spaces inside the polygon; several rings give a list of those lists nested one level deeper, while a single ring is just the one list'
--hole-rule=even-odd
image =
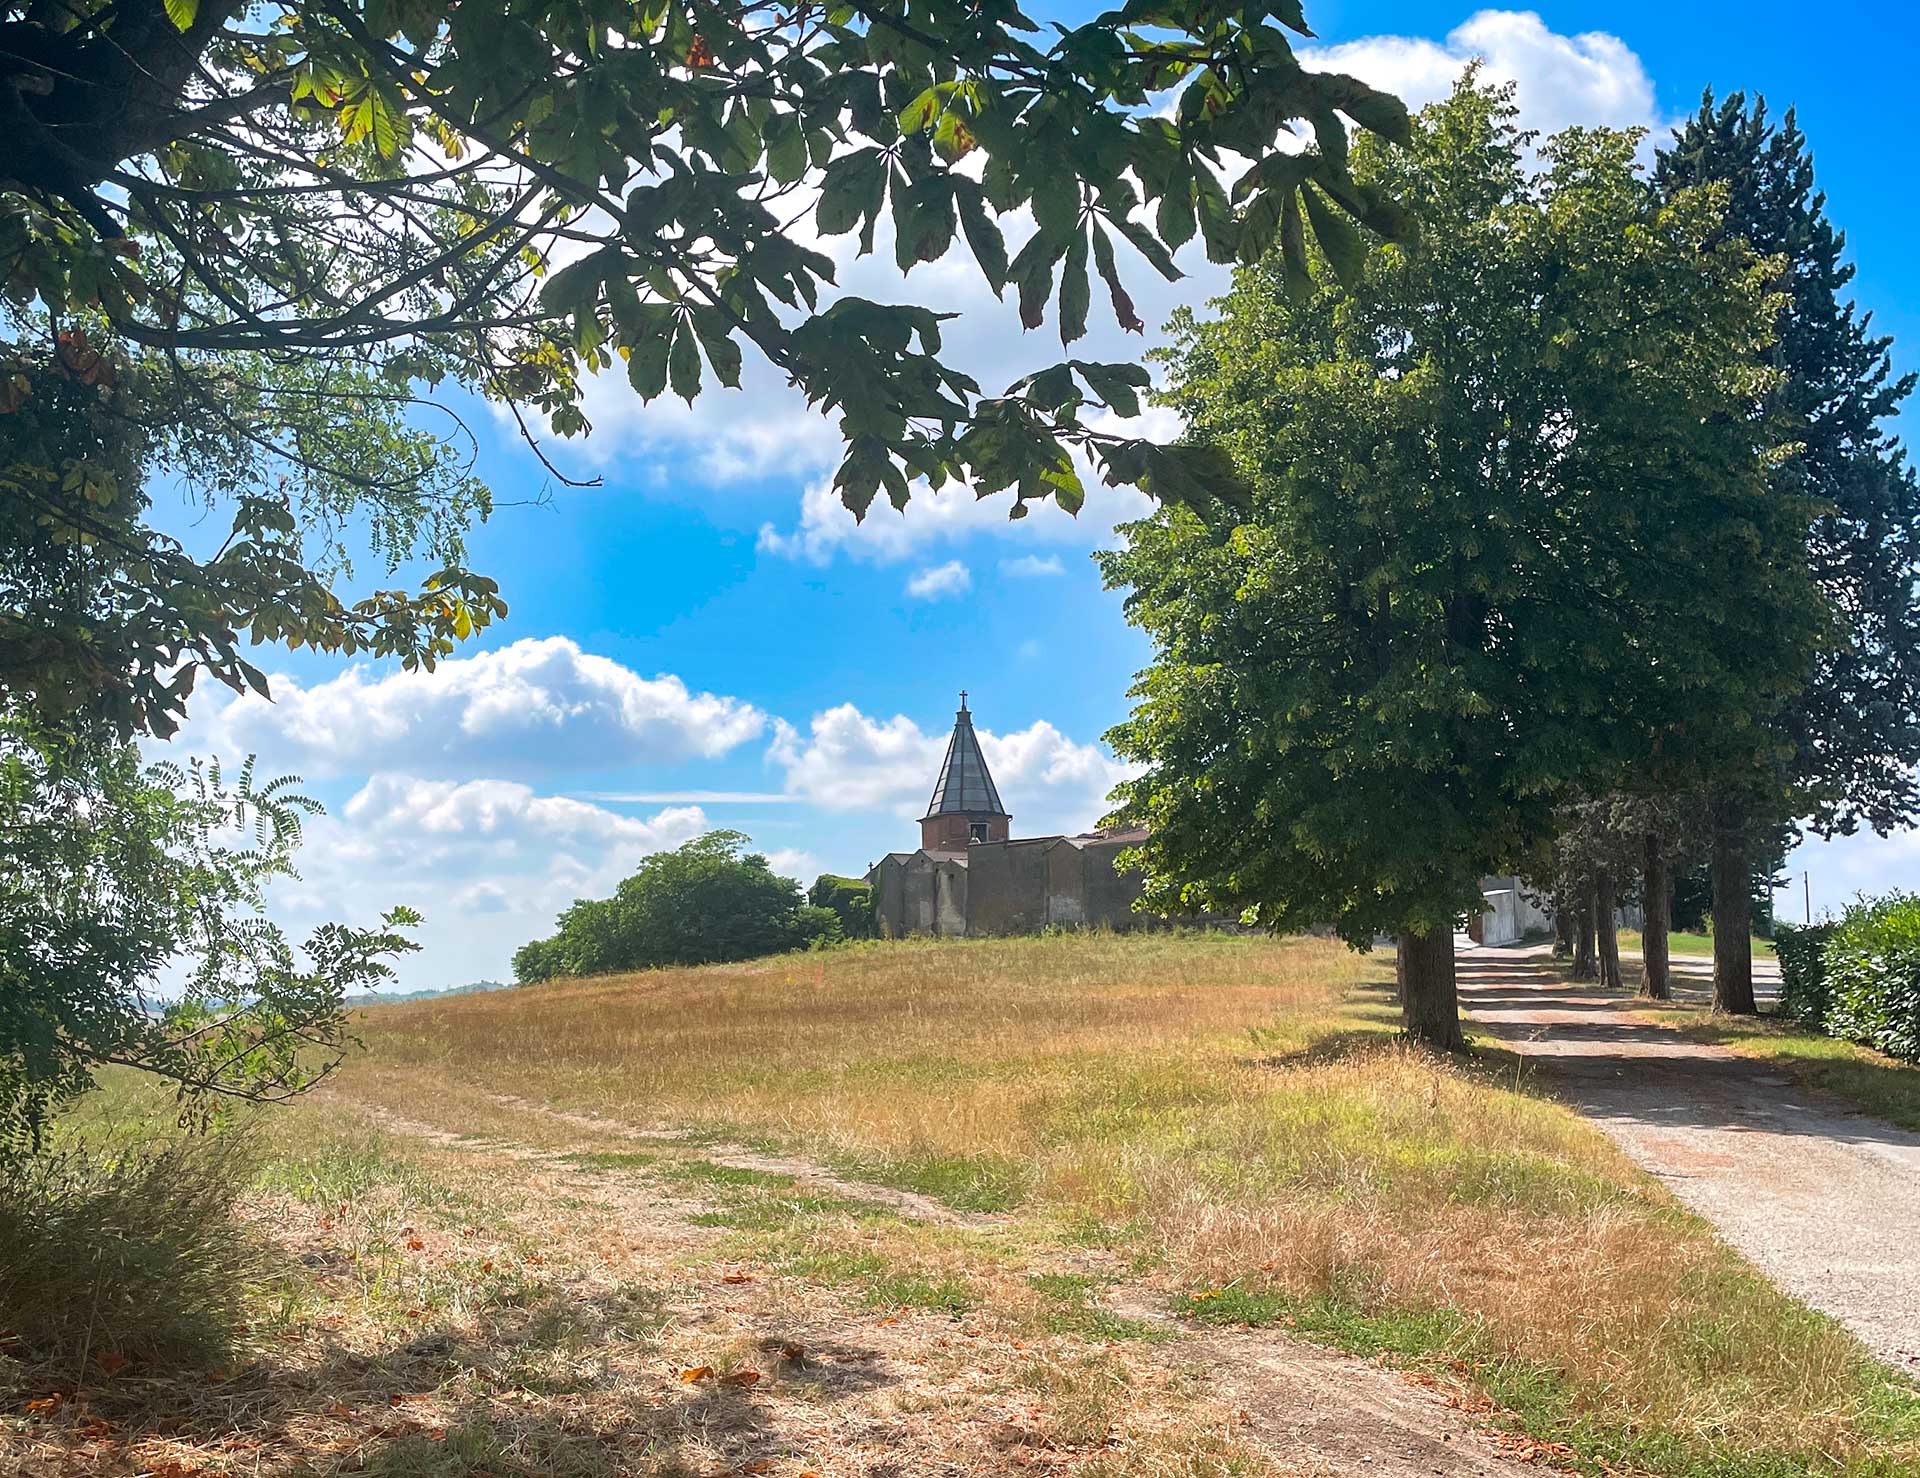
[{"label": "low wispy grass-like bush at the lower left edge", "polygon": [[0,1328],[27,1357],[223,1359],[265,1263],[232,1136],[0,1167]]}]

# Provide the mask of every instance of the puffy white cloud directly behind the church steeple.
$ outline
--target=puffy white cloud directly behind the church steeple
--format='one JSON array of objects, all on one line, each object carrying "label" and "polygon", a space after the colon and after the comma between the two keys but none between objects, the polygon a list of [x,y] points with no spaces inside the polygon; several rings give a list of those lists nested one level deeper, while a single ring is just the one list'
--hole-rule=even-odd
[{"label": "puffy white cloud directly behind the church steeple", "polygon": [[[1085,831],[1106,812],[1106,795],[1133,770],[1100,745],[1075,743],[1044,720],[993,733],[979,729],[1000,800],[1016,835]],[[787,791],[822,810],[889,810],[920,816],[947,752],[947,733],[925,733],[904,714],[870,718],[843,703],[814,714],[806,733],[778,722],[768,760]]]}]

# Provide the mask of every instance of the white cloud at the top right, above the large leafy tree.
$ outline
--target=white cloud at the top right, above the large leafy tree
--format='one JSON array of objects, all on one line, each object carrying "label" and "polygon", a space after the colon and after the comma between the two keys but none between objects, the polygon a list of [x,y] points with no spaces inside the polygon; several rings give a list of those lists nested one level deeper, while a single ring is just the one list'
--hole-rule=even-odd
[{"label": "white cloud at the top right, above the large leafy tree", "polygon": [[1486,77],[1511,81],[1521,127],[1544,134],[1574,123],[1609,129],[1653,129],[1653,79],[1634,50],[1605,31],[1561,35],[1532,10],[1482,10],[1448,33],[1425,36],[1367,36],[1338,46],[1302,50],[1315,71],[1346,71],[1400,96],[1419,109],[1453,90],[1475,58]]}]

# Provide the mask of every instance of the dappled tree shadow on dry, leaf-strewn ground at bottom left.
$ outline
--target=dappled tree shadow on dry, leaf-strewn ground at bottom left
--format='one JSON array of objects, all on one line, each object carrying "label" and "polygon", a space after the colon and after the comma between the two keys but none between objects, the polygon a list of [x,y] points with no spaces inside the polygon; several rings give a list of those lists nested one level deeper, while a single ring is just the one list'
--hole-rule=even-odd
[{"label": "dappled tree shadow on dry, leaf-strewn ground at bottom left", "polygon": [[[54,1395],[25,1434],[42,1466],[21,1470],[67,1470],[106,1438],[179,1443],[188,1451],[165,1461],[180,1472],[242,1455],[250,1468],[313,1478],[705,1474],[793,1455],[772,1428],[770,1394],[804,1388],[822,1403],[893,1380],[876,1349],[806,1346],[768,1323],[762,1353],[741,1367],[755,1376],[718,1367],[687,1382],[657,1342],[670,1323],[657,1290],[541,1292],[480,1328],[444,1321],[376,1349],[323,1332],[298,1365],[276,1353],[232,1372],[134,1365],[75,1388],[0,1357],[0,1388]],[[140,1466],[154,1461],[142,1453]]]}]

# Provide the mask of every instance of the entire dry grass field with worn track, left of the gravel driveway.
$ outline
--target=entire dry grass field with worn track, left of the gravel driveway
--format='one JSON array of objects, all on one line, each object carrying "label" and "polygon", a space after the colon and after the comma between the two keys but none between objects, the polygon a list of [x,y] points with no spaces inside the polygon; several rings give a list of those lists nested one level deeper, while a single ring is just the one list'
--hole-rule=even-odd
[{"label": "entire dry grass field with worn track, left of the gravel driveway", "polygon": [[1920,1468],[1910,1386],[1513,1058],[1400,1044],[1388,981],[1062,937],[371,1008],[236,1131],[257,1259],[213,1372],[0,1344],[0,1465],[1411,1474],[1457,1426],[1586,1472]]}]

